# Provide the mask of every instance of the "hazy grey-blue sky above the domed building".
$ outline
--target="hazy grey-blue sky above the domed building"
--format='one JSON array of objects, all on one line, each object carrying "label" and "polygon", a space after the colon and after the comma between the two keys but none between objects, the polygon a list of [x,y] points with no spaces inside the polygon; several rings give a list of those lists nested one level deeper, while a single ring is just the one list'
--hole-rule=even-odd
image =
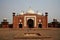
[{"label": "hazy grey-blue sky above the domed building", "polygon": [[7,18],[12,23],[12,13],[26,12],[31,7],[43,14],[48,12],[48,22],[55,18],[60,22],[60,0],[0,0],[0,23]]}]

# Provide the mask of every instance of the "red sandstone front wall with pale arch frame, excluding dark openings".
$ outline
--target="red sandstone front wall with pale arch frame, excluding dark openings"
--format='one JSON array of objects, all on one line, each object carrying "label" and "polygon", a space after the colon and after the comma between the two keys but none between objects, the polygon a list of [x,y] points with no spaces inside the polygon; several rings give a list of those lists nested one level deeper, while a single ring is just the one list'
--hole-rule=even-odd
[{"label": "red sandstone front wall with pale arch frame, excluding dark openings", "polygon": [[[15,15],[13,17],[13,28],[19,28],[19,23],[22,23],[22,28],[28,28],[27,21],[32,19],[34,21],[34,28],[38,28],[38,24],[42,24],[42,28],[47,28],[48,22],[47,17],[45,15],[37,15],[37,14],[23,14],[23,15]],[[21,21],[21,22],[20,22]]]}]

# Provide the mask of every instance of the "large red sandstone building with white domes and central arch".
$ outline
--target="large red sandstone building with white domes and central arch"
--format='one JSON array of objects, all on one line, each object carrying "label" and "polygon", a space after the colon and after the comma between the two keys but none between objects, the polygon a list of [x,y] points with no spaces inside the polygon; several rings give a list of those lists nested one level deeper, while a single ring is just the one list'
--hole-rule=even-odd
[{"label": "large red sandstone building with white domes and central arch", "polygon": [[42,15],[29,9],[27,12],[21,12],[19,15],[13,13],[13,28],[47,28],[48,13]]}]

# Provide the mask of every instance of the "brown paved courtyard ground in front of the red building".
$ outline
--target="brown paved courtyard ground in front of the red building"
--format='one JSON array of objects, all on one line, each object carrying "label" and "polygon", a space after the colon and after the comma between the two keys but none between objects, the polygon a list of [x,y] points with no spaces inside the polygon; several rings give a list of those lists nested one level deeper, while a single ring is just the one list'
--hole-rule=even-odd
[{"label": "brown paved courtyard ground in front of the red building", "polygon": [[0,40],[60,40],[60,28],[0,28]]}]

